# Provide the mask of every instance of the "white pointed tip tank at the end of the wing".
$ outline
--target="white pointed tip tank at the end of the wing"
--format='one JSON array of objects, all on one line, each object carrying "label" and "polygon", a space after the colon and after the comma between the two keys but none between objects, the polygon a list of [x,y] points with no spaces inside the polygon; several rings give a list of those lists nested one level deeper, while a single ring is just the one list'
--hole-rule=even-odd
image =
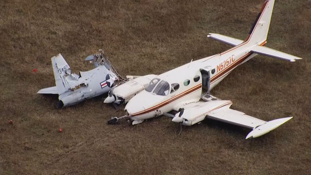
[{"label": "white pointed tip tank at the end of the wing", "polygon": [[267,134],[268,132],[276,129],[277,127],[281,126],[283,123],[289,121],[292,118],[293,117],[279,118],[266,122],[265,124],[256,127],[253,131],[248,133],[245,139],[255,138]]}]

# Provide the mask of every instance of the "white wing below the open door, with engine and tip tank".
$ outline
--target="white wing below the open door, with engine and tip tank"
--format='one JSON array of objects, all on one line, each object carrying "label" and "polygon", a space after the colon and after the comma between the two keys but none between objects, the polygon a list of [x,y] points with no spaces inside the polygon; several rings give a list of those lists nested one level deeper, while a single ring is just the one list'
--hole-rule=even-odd
[{"label": "white wing below the open door, with engine and tip tank", "polygon": [[248,139],[262,136],[292,118],[279,118],[267,122],[246,115],[243,112],[230,109],[231,105],[232,102],[229,100],[213,100],[207,102],[199,101],[186,104],[183,105],[183,108],[179,109],[179,113],[175,115],[172,121],[190,126],[201,122],[205,118],[210,118],[213,120],[253,129],[253,131],[251,131],[245,138]]}]

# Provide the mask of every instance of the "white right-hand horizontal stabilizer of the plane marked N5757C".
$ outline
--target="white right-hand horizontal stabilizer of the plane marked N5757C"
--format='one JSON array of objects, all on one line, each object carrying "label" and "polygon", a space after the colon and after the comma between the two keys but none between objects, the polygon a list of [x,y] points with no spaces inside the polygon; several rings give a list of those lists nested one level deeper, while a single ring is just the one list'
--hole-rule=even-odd
[{"label": "white right-hand horizontal stabilizer of the plane marked N5757C", "polygon": [[287,61],[294,62],[296,60],[302,59],[299,57],[296,57],[294,55],[290,55],[284,52],[280,52],[277,50],[274,50],[272,48],[267,48],[265,46],[257,46],[251,50],[253,53],[269,56],[269,57],[274,57],[274,58],[279,58]]}]

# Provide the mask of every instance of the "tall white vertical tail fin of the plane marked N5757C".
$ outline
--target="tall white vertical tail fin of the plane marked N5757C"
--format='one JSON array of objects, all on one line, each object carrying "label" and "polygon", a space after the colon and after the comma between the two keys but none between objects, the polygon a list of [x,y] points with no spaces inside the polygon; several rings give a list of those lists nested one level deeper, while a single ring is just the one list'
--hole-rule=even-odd
[{"label": "tall white vertical tail fin of the plane marked N5757C", "polygon": [[249,44],[263,43],[267,40],[267,35],[270,27],[270,21],[274,6],[274,0],[265,0],[261,11],[258,13],[253,27],[248,33],[248,37],[244,42]]}]

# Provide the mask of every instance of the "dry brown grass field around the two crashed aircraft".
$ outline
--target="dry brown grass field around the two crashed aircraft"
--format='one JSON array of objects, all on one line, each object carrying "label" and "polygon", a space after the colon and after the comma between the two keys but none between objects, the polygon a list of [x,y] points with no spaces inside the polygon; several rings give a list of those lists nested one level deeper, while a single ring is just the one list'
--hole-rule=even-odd
[{"label": "dry brown grass field around the two crashed aircraft", "polygon": [[180,136],[166,117],[107,125],[124,112],[101,97],[58,110],[57,96],[36,94],[55,85],[50,58],[58,53],[78,72],[104,48],[123,76],[220,53],[230,46],[206,35],[245,39],[262,3],[0,0],[0,174],[311,174],[310,0],[276,0],[267,39],[304,59],[257,56],[211,92],[263,120],[294,117],[259,138],[212,120]]}]

